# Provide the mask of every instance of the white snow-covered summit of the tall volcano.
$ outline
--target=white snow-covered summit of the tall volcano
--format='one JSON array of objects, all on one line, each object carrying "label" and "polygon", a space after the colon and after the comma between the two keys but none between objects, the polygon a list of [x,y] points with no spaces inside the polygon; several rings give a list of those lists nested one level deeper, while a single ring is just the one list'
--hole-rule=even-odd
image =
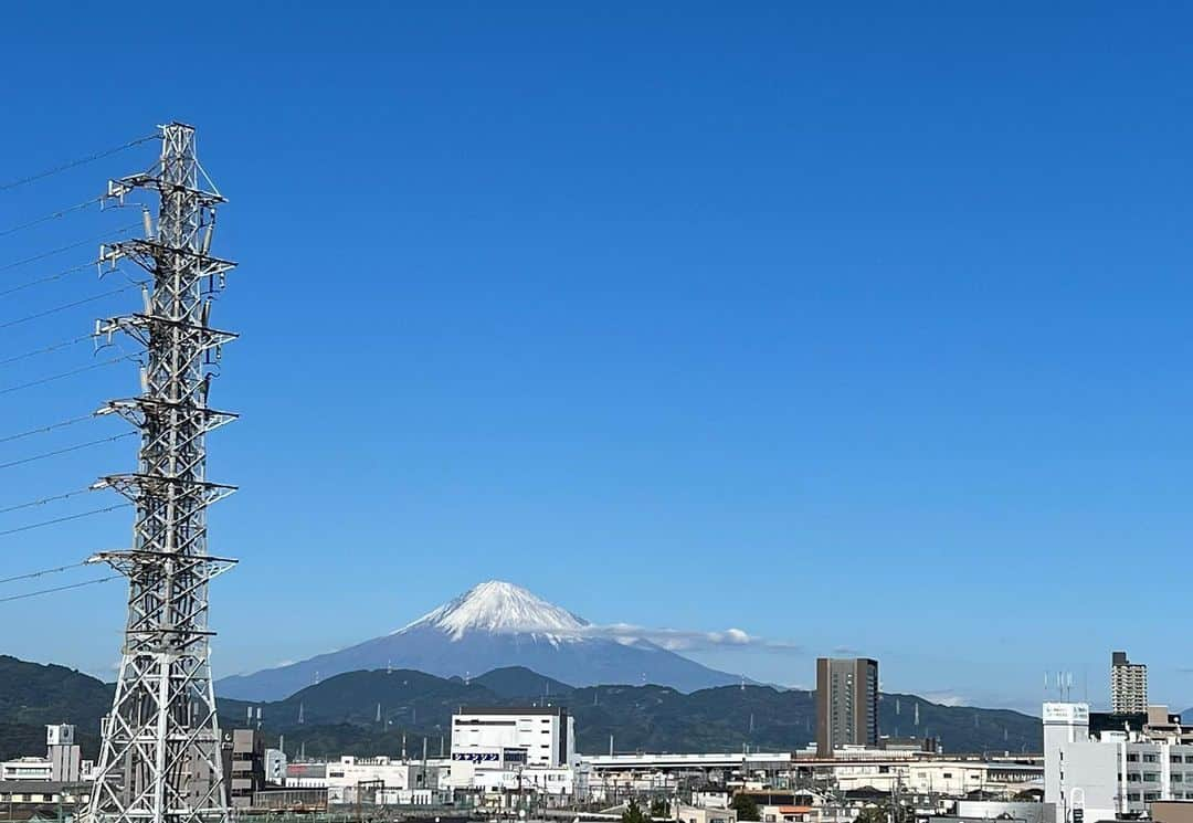
[{"label": "white snow-covered summit of the tall volcano", "polygon": [[587,620],[546,602],[520,586],[489,580],[394,633],[400,635],[419,626],[435,626],[447,632],[452,641],[459,641],[470,631],[574,639],[587,625]]}]

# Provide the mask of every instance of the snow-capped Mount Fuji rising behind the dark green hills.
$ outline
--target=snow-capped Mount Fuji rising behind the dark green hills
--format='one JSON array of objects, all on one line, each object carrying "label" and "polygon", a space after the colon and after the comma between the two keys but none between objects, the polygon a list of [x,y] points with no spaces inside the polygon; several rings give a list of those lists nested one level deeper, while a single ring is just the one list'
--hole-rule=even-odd
[{"label": "snow-capped Mount Fuji rising behind the dark green hills", "polygon": [[221,697],[277,700],[320,679],[400,667],[440,677],[523,666],[574,686],[650,682],[692,692],[740,679],[644,638],[599,627],[526,589],[492,580],[395,632],[298,663],[216,683]]}]

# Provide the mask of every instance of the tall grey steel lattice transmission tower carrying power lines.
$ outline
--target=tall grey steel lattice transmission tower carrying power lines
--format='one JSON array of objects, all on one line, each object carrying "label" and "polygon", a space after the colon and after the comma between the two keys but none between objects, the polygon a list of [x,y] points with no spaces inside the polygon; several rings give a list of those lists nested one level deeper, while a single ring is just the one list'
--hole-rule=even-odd
[{"label": "tall grey steel lattice transmission tower carrying power lines", "polygon": [[[161,159],[113,180],[123,203],[155,192],[157,229],[100,248],[152,278],[144,311],[99,321],[97,334],[126,334],[146,347],[138,397],[110,402],[141,429],[137,470],[98,485],[136,508],[134,545],[98,557],[129,578],[129,614],[112,711],[91,796],[92,823],[221,823],[228,818],[220,725],[209,664],[208,584],[233,561],[208,555],[206,508],[234,488],[206,478],[208,432],[235,415],[208,407],[211,367],[236,335],[208,324],[210,298],[235,264],[210,254],[215,208],[224,198],[194,154],[194,129],[162,126]],[[200,186],[209,186],[205,190]]]}]

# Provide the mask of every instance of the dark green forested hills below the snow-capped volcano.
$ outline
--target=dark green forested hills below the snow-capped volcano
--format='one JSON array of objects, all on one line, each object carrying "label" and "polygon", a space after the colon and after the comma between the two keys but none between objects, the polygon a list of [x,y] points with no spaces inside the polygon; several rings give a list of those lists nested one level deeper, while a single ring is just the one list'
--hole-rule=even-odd
[{"label": "dark green forested hills below the snow-capped volcano", "polygon": [[[44,749],[42,724],[79,726],[85,756],[94,756],[99,718],[111,685],[58,666],[0,657],[0,759]],[[451,714],[460,705],[564,705],[576,718],[582,753],[793,750],[811,742],[812,695],[768,686],[722,686],[685,694],[666,686],[574,687],[526,668],[501,668],[465,682],[409,669],[352,672],[276,701],[221,698],[221,724],[246,724],[261,710],[271,745],[285,737],[292,755],[412,755],[427,741],[432,755],[450,741]],[[884,735],[939,737],[948,751],[1038,751],[1040,722],[1019,712],[942,706],[910,694],[884,694]],[[381,720],[378,720],[378,716]],[[301,719],[301,722],[299,722]],[[255,719],[254,719],[255,723]]]}]

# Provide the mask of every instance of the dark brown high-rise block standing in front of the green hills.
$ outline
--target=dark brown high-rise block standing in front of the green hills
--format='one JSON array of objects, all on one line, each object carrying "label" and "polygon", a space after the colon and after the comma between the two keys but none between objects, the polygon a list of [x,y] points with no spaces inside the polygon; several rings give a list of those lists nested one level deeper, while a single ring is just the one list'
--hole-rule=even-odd
[{"label": "dark brown high-rise block standing in front of the green hills", "polygon": [[878,661],[816,661],[816,754],[845,745],[878,745]]}]

